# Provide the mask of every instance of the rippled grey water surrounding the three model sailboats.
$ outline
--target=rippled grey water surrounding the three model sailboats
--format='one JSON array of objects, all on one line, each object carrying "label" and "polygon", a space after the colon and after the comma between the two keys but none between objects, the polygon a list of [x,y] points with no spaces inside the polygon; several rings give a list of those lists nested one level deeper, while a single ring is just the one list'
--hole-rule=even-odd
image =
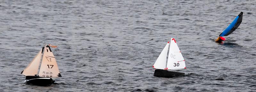
[{"label": "rippled grey water surrounding the three model sailboats", "polygon": [[[0,91],[224,91],[256,89],[256,1],[0,1]],[[241,12],[243,22],[214,39]],[[154,77],[152,65],[170,38],[186,76]],[[26,85],[20,72],[44,44],[61,78]]]}]

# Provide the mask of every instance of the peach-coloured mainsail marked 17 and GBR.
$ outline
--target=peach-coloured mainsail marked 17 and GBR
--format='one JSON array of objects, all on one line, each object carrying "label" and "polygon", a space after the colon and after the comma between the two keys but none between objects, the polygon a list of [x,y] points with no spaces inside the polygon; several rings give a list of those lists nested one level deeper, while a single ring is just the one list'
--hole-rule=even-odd
[{"label": "peach-coloured mainsail marked 17 and GBR", "polygon": [[50,46],[44,48],[43,59],[39,70],[40,77],[61,77],[56,59]]}]

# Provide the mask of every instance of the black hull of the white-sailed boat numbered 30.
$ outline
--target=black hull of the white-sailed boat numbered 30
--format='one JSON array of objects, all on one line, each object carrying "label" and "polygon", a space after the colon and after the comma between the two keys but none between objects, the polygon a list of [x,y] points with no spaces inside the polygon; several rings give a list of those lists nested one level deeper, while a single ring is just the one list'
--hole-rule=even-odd
[{"label": "black hull of the white-sailed boat numbered 30", "polygon": [[167,71],[167,70],[162,70],[162,69],[156,69],[154,76],[156,77],[164,77],[164,78],[172,78],[175,76],[182,76],[185,75],[185,73],[180,73],[180,72],[172,72],[172,71]]}]

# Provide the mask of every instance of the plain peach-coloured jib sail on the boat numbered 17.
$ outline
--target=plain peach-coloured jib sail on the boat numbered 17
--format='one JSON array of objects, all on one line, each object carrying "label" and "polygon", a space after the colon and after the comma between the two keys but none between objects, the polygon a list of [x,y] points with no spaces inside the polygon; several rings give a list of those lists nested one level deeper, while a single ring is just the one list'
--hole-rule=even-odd
[{"label": "plain peach-coloured jib sail on the boat numbered 17", "polygon": [[36,54],[34,59],[23,70],[22,74],[25,76],[35,76],[38,72],[38,67],[42,57],[42,49]]}]

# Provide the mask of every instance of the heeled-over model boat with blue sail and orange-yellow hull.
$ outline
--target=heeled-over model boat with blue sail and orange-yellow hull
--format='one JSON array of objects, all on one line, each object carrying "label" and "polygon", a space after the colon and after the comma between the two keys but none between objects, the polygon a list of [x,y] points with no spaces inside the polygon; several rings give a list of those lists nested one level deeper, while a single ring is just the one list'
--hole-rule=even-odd
[{"label": "heeled-over model boat with blue sail and orange-yellow hull", "polygon": [[238,28],[238,26],[242,23],[242,20],[243,20],[243,12],[241,12],[222,33],[220,33],[219,37],[215,41],[221,42],[223,40],[226,40],[223,36],[228,36],[229,34],[234,32],[236,28]]}]

